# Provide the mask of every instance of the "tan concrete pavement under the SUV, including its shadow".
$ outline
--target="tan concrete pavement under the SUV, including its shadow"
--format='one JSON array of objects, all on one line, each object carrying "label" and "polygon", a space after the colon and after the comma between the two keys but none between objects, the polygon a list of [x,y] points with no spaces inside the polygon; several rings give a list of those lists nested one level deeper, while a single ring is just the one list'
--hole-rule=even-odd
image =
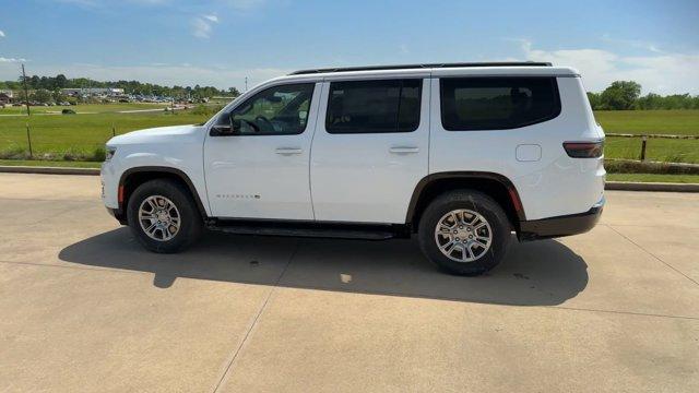
[{"label": "tan concrete pavement under the SUV, including its shadow", "polygon": [[699,195],[607,192],[487,276],[415,241],[142,250],[99,181],[0,174],[0,392],[699,390]]}]

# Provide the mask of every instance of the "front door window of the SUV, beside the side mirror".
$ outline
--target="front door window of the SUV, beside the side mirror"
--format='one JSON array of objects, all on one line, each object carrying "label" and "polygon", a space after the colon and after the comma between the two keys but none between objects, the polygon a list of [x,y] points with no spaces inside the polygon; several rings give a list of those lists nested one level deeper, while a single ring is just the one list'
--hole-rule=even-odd
[{"label": "front door window of the SUV, beside the side mirror", "polygon": [[299,83],[266,88],[230,112],[233,127],[244,135],[299,134],[308,122],[313,86]]}]

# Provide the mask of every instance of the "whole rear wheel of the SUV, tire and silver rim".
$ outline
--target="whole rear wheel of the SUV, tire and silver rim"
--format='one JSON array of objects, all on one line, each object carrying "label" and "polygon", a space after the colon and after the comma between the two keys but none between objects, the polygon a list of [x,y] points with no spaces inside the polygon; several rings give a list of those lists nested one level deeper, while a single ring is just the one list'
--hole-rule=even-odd
[{"label": "whole rear wheel of the SUV, tire and silver rim", "polygon": [[418,227],[425,255],[440,269],[478,275],[495,267],[507,251],[510,223],[490,196],[458,190],[435,199]]}]

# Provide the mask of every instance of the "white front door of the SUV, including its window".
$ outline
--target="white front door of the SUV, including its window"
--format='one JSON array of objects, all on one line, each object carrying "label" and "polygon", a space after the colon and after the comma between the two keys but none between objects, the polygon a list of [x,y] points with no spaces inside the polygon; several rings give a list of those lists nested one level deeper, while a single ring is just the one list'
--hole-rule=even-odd
[{"label": "white front door of the SUV, including its window", "polygon": [[313,219],[308,166],[319,91],[320,83],[263,88],[217,120],[234,133],[204,143],[214,216]]}]

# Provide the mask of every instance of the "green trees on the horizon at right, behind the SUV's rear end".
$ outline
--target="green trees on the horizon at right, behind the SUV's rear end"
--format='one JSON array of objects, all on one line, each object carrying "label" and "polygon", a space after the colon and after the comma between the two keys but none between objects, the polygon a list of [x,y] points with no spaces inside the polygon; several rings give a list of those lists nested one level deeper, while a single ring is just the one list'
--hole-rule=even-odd
[{"label": "green trees on the horizon at right, behind the SUV's rear end", "polygon": [[641,96],[641,85],[633,81],[613,82],[602,93],[588,92],[593,110],[699,109],[699,96],[649,93]]}]

